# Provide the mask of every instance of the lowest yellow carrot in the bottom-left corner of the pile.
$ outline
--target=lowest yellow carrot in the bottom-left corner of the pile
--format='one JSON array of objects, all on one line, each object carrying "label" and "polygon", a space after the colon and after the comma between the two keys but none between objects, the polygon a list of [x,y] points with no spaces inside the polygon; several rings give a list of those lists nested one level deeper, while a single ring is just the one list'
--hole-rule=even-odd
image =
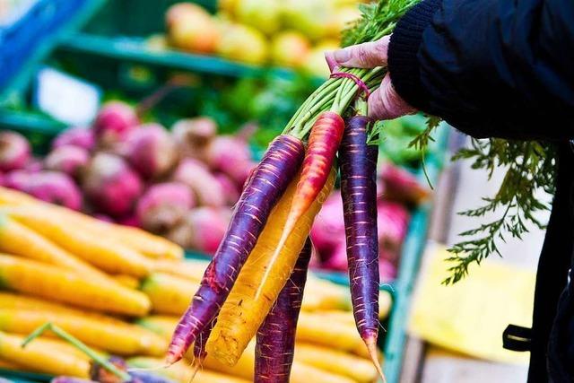
[{"label": "lowest yellow carrot in the bottom-left corner of the pile", "polygon": [[74,353],[65,353],[54,347],[53,341],[37,339],[22,348],[22,336],[0,332],[0,358],[21,365],[26,370],[52,375],[87,378],[90,361]]}]

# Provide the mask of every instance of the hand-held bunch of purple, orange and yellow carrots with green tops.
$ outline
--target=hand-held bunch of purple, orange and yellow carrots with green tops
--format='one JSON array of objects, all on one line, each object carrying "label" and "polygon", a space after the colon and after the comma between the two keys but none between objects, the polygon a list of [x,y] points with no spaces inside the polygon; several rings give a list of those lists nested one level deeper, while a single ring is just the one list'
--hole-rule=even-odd
[{"label": "hand-held bunch of purple, orange and yellow carrots with green tops", "polygon": [[[361,21],[346,32],[344,40],[354,44],[382,37],[413,3],[381,0],[363,7]],[[180,360],[193,344],[196,366],[206,356],[234,365],[255,337],[255,381],[289,381],[312,248],[309,231],[338,167],[354,319],[382,376],[376,347],[379,128],[366,118],[364,99],[384,74],[383,67],[334,68],[331,78],[309,96],[283,134],[269,145],[179,320],[168,364]]]}]

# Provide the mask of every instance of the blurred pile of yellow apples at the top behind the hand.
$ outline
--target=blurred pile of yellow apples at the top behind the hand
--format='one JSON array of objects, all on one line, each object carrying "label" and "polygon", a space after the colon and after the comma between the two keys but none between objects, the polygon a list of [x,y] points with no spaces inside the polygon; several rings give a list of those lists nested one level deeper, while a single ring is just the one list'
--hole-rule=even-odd
[{"label": "blurred pile of yellow apples at the top behind the hand", "polygon": [[215,15],[178,3],[166,13],[168,42],[190,52],[253,65],[328,74],[324,52],[359,17],[358,0],[221,0]]}]

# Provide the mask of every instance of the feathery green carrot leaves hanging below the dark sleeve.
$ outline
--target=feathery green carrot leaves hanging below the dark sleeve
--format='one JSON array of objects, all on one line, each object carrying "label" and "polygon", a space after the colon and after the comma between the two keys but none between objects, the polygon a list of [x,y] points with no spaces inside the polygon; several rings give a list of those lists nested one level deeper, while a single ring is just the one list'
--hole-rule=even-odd
[{"label": "feathery green carrot leaves hanging below the dark sleeve", "polygon": [[487,213],[499,216],[477,228],[460,233],[467,237],[448,251],[451,275],[443,283],[457,283],[468,274],[468,266],[480,264],[491,254],[500,255],[498,245],[507,238],[522,239],[528,231],[526,224],[543,229],[545,224],[536,217],[549,205],[540,201],[537,192],[554,193],[555,152],[551,145],[536,141],[507,141],[499,138],[473,140],[472,147],[457,152],[454,160],[472,160],[473,169],[488,170],[489,179],[495,168],[506,167],[506,175],[496,195],[484,197],[484,205],[460,214],[483,217]]}]

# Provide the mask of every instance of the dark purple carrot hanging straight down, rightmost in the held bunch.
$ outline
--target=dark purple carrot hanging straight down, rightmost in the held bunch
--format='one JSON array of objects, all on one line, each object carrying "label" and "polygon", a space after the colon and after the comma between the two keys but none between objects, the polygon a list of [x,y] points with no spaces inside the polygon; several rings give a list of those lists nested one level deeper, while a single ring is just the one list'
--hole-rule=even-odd
[{"label": "dark purple carrot hanging straight down, rightmost in the held bunch", "polygon": [[378,367],[378,147],[367,144],[369,122],[362,116],[347,121],[339,159],[352,311],[359,334]]}]

